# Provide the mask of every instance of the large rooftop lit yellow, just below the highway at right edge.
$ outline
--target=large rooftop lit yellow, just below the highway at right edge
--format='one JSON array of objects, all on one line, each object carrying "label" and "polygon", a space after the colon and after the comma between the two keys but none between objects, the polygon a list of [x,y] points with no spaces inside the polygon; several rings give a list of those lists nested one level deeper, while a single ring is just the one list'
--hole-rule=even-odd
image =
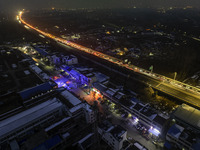
[{"label": "large rooftop lit yellow, just below the highway at right edge", "polygon": [[173,116],[200,130],[200,110],[182,104],[174,111]]}]

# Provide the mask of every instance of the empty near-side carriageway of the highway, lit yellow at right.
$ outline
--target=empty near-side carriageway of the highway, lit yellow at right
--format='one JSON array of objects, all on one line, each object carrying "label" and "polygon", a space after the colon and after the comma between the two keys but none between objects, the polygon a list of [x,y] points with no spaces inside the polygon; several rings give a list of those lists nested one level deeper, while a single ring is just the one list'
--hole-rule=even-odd
[{"label": "empty near-side carriageway of the highway, lit yellow at right", "polygon": [[[70,48],[69,46],[66,46],[64,44],[60,44],[60,45],[66,49]],[[76,52],[76,54],[80,54],[79,50],[77,50],[75,48],[70,48],[70,51]],[[125,73],[123,73],[123,71],[120,72],[118,70],[115,70],[114,68],[110,68],[108,65],[103,64],[102,62],[100,63],[95,59],[91,59],[90,57],[85,57],[84,55],[81,55],[81,57],[92,63],[100,65],[101,67],[111,70],[112,72],[115,72],[116,74],[119,74],[120,76],[128,78],[129,74],[125,74]],[[163,93],[171,95],[172,97],[180,99],[183,102],[186,102],[192,106],[200,107],[200,96],[189,90],[185,90],[185,89],[181,90],[181,89],[171,86],[170,84],[167,84],[163,81],[150,78],[149,76],[141,75],[137,72],[135,72],[134,75],[131,75],[130,78],[132,80],[136,80],[136,81],[142,82],[146,85],[149,85],[156,90],[159,90]]]}]

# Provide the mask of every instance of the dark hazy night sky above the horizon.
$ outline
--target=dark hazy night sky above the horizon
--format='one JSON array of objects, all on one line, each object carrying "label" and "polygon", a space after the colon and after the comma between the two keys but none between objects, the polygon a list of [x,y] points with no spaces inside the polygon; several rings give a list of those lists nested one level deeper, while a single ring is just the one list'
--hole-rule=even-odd
[{"label": "dark hazy night sky above the horizon", "polygon": [[0,0],[1,10],[22,8],[119,8],[119,7],[200,7],[200,0]]}]

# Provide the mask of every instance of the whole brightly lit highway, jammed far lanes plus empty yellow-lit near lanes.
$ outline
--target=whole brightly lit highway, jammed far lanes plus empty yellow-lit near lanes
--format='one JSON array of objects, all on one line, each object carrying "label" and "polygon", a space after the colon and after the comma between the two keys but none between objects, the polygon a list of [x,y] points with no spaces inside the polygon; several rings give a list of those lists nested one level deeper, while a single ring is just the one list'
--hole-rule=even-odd
[{"label": "whole brightly lit highway, jammed far lanes plus empty yellow-lit near lanes", "polygon": [[[78,45],[76,43],[70,42],[70,41],[66,41],[60,37],[56,37],[50,33],[46,33],[42,30],[39,30],[38,28],[33,27],[32,25],[26,23],[23,19],[22,19],[22,14],[23,12],[19,13],[19,20],[21,21],[21,23],[25,24],[28,28],[31,28],[37,32],[39,32],[40,34],[51,38],[57,42],[60,42],[64,45],[73,47],[75,49],[78,49],[79,51],[83,51],[85,53],[94,55],[96,57],[99,57],[101,59],[107,60],[110,63],[114,63],[120,67],[124,67],[126,69],[129,69],[133,72],[135,72],[136,74],[140,74],[140,76],[138,76],[137,80],[144,82],[145,84],[149,84],[151,85],[153,88],[158,89],[160,91],[163,91],[169,95],[172,95],[176,98],[179,98],[189,104],[195,105],[197,107],[199,107],[200,105],[200,99],[199,99],[199,89],[196,89],[195,87],[186,85],[184,83],[178,82],[178,81],[173,81],[172,79],[169,79],[167,77],[155,74],[155,73],[151,73],[148,70],[142,69],[142,68],[138,68],[134,65],[128,65],[128,64],[124,64],[122,62],[122,60],[119,60],[117,58],[114,58],[112,56],[100,53],[98,51],[92,50],[90,48]],[[27,28],[26,27],[26,28]],[[164,81],[165,83],[160,84],[162,81]],[[169,82],[169,83],[168,83]],[[173,82],[176,82],[176,84],[174,84]],[[180,87],[181,85],[181,87]],[[185,89],[185,87],[189,87],[193,90],[193,93],[190,91],[187,91]],[[196,93],[195,93],[196,92]]]}]

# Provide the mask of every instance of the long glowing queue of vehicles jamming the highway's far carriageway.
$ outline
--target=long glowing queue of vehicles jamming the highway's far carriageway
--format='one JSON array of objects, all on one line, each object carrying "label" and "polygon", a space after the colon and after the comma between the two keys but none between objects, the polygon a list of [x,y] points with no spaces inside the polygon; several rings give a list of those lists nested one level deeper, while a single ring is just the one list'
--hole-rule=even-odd
[{"label": "long glowing queue of vehicles jamming the highway's far carriageway", "polygon": [[115,57],[109,56],[109,55],[107,55],[107,54],[103,54],[103,53],[101,53],[101,52],[92,50],[92,49],[90,49],[90,48],[81,46],[81,45],[76,44],[76,43],[74,43],[74,42],[67,41],[67,40],[62,39],[62,38],[60,38],[60,37],[56,37],[56,36],[54,36],[54,35],[52,35],[52,34],[50,34],[50,33],[46,33],[46,32],[44,32],[44,31],[42,31],[42,30],[39,30],[37,27],[33,27],[33,26],[31,26],[30,24],[26,23],[26,22],[22,19],[22,14],[23,14],[23,12],[21,11],[21,12],[19,13],[19,16],[17,17],[17,18],[19,19],[19,21],[22,22],[24,25],[26,25],[26,27],[29,27],[29,28],[31,28],[31,29],[33,29],[33,30],[39,32],[39,33],[42,34],[43,36],[46,36],[46,37],[48,37],[48,38],[51,38],[51,39],[53,39],[53,40],[55,40],[55,41],[57,41],[57,42],[60,42],[60,43],[62,43],[62,44],[66,44],[66,45],[68,45],[68,46],[71,46],[71,47],[73,47],[73,48],[79,49],[79,50],[84,51],[84,52],[86,52],[86,53],[95,55],[95,56],[97,56],[97,57],[100,57],[100,58],[105,59],[105,60],[107,60],[107,61],[109,61],[109,62],[112,62],[112,63],[114,63],[114,64],[117,64],[117,65],[119,65],[119,66],[121,66],[121,67],[125,67],[125,68],[127,68],[127,69],[129,69],[129,70],[132,70],[132,71],[134,71],[134,72],[138,72],[138,73],[140,73],[140,74],[143,74],[143,75],[149,76],[149,77],[151,77],[151,78],[157,79],[157,80],[159,80],[159,81],[161,81],[161,82],[165,82],[165,83],[167,83],[167,84],[173,85],[173,86],[178,87],[178,88],[180,88],[180,89],[182,89],[182,90],[187,90],[187,91],[191,91],[191,92],[193,92],[193,93],[195,93],[195,94],[200,94],[200,89],[198,89],[198,88],[196,88],[196,87],[193,87],[193,86],[191,86],[191,85],[188,85],[188,84],[179,82],[179,81],[174,80],[174,79],[171,79],[171,78],[167,78],[167,77],[165,77],[165,76],[162,76],[162,75],[153,73],[153,72],[151,72],[151,71],[149,71],[149,70],[145,70],[145,69],[142,69],[142,68],[138,68],[137,66],[134,66],[134,65],[132,65],[132,64],[126,64],[126,63],[124,63],[122,60],[117,59],[117,58],[115,58]]}]

